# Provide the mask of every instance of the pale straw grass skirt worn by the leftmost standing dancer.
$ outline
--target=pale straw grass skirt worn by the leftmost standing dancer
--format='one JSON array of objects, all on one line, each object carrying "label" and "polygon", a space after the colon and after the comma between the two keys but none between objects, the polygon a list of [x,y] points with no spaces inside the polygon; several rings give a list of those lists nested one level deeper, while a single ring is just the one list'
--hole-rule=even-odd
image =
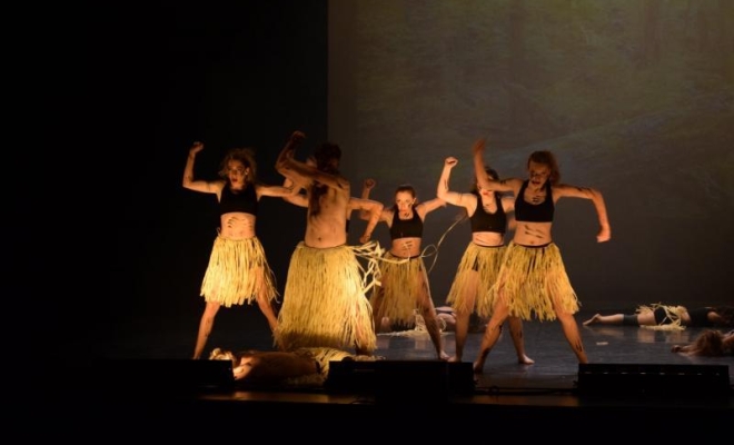
[{"label": "pale straw grass skirt worn by the leftmost standing dancer", "polygon": [[260,286],[265,286],[268,300],[278,296],[275,276],[260,240],[257,237],[229,239],[218,236],[211,248],[200,295],[207,301],[230,307],[256,301]]}]

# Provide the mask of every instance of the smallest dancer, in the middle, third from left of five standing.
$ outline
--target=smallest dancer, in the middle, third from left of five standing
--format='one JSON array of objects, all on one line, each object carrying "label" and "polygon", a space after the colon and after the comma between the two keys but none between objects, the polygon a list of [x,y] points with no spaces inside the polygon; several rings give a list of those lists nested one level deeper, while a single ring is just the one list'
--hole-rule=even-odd
[{"label": "smallest dancer, in the middle, third from left of five standing", "polygon": [[[369,199],[369,191],[375,185],[374,179],[364,181],[363,199]],[[379,264],[380,284],[375,286],[370,296],[375,326],[379,330],[384,317],[395,324],[414,323],[414,310],[418,309],[426,322],[436,356],[439,359],[448,359],[444,352],[440,325],[430,297],[428,274],[420,251],[426,215],[446,207],[446,202],[438,198],[419,204],[416,204],[416,200],[413,186],[401,185],[395,191],[395,204],[390,208],[384,208],[379,215],[379,220],[389,227],[393,243]]]}]

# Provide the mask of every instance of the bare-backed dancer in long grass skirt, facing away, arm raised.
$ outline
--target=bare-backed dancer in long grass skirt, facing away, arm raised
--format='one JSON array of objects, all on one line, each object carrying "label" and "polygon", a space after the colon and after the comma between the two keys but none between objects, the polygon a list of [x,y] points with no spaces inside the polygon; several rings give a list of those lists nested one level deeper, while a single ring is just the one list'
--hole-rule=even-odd
[{"label": "bare-backed dancer in long grass skirt, facing away, arm raised", "polygon": [[[284,303],[278,314],[276,344],[282,350],[300,347],[354,347],[371,355],[377,347],[371,307],[365,297],[356,249],[347,245],[350,184],[338,170],[339,146],[321,144],[316,166],[294,157],[305,135],[295,131],[276,161],[276,169],[306,191],[306,234],[290,258]],[[376,214],[360,237],[367,243]]]}]

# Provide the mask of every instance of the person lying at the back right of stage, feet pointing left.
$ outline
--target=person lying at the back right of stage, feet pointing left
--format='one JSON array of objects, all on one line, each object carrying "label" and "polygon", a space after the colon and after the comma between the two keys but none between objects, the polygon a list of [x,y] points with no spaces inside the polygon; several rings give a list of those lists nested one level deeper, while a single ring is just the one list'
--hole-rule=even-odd
[{"label": "person lying at the back right of stage, feet pointing left", "polygon": [[686,326],[734,327],[734,306],[704,306],[688,309],[685,306],[653,304],[639,306],[635,314],[596,314],[584,322],[594,324],[639,326],[661,330],[682,330]]}]

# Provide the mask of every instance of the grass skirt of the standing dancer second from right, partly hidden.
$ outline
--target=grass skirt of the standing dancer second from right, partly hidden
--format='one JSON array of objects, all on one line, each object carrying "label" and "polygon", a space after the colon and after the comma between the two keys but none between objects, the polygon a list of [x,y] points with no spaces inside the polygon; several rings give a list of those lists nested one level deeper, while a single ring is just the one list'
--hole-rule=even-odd
[{"label": "grass skirt of the standing dancer second from right, partly hidden", "polygon": [[[488,290],[497,280],[499,267],[505,257],[505,250],[507,250],[507,247],[504,245],[484,247],[470,241],[464,251],[464,256],[462,256],[454,283],[452,283],[452,288],[448,290],[448,296],[446,297],[446,304],[452,306],[457,313],[470,314],[475,308],[482,308],[484,313],[477,315],[482,318],[489,318],[492,316],[492,305],[488,304]],[[466,300],[467,291],[476,290],[468,288],[468,277],[472,273],[479,274],[479,291],[475,297],[474,306],[468,307],[469,301]]]}]

